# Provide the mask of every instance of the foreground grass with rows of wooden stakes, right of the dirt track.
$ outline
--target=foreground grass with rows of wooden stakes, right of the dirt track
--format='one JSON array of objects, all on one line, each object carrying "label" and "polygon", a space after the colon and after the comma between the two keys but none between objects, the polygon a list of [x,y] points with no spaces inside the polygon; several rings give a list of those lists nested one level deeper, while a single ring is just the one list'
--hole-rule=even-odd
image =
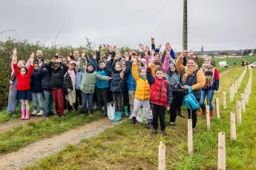
[{"label": "foreground grass with rows of wooden stakes, right of the dirt track", "polygon": [[[221,78],[220,120],[211,121],[211,130],[206,129],[206,118],[198,118],[197,134],[194,135],[194,154],[187,154],[187,120],[177,118],[177,126],[168,127],[168,137],[151,136],[145,125],[130,125],[130,120],[106,129],[97,137],[82,140],[79,146],[69,145],[64,150],[50,157],[39,160],[24,169],[157,169],[158,145],[163,141],[166,146],[166,169],[217,169],[217,134],[226,132],[226,166],[229,169],[256,169],[255,141],[255,101],[256,92],[252,91],[243,123],[237,125],[237,141],[229,140],[229,113],[234,104],[227,102],[227,109],[222,108],[222,91],[237,79],[243,67],[236,68]],[[249,70],[248,70],[249,71]],[[253,73],[256,76],[256,72]],[[243,84],[234,101],[249,79],[247,72]],[[253,82],[252,89],[256,88]],[[229,92],[227,92],[229,99]],[[166,120],[168,116],[166,115]]]}]

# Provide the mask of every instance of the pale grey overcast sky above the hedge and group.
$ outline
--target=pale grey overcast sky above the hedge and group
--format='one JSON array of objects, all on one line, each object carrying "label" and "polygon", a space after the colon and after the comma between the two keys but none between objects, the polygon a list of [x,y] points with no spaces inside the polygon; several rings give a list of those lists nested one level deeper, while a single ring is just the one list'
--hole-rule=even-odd
[{"label": "pale grey overcast sky above the hedge and group", "polygon": [[[183,0],[0,0],[0,40],[8,36],[74,47],[85,36],[117,47],[183,48]],[[188,0],[188,49],[256,47],[256,0]]]}]

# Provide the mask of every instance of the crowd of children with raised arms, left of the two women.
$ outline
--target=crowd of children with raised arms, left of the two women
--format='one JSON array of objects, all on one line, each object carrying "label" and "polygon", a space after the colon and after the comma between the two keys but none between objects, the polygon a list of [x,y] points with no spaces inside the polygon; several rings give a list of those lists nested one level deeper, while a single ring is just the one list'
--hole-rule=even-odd
[{"label": "crowd of children with raised arms, left of the two women", "polygon": [[[39,50],[36,52],[36,59],[33,54],[30,55],[27,67],[24,67],[24,61],[17,61],[17,52],[13,50],[14,72],[10,79],[8,112],[15,115],[18,100],[22,106],[21,119],[29,119],[29,101],[32,95],[31,115],[45,115],[49,118],[54,115],[53,103],[55,114],[60,118],[64,116],[65,103],[69,112],[78,111],[80,103],[82,109],[79,112],[92,115],[94,96],[102,116],[107,116],[108,103],[114,101],[115,112],[111,121],[122,120],[122,106],[125,116],[130,116],[130,106],[131,124],[134,124],[137,122],[137,112],[143,108],[148,118],[146,128],[154,128],[151,135],[157,134],[157,120],[160,117],[160,129],[163,136],[166,136],[165,109],[169,110],[172,102],[171,84],[181,81],[181,78],[175,67],[175,55],[171,45],[167,43],[165,51],[160,54],[161,46],[156,49],[154,38],[151,41],[152,50],[140,44],[142,52],[125,52],[123,57],[116,51],[116,47],[108,46],[108,52],[104,54],[99,46],[96,55],[87,54],[85,48],[82,48],[81,57],[78,50],[73,54],[69,52],[67,58],[57,52],[49,61],[42,58],[42,51]],[[63,82],[67,76],[70,77],[72,90],[64,94]],[[177,112],[184,118],[180,108]]]}]

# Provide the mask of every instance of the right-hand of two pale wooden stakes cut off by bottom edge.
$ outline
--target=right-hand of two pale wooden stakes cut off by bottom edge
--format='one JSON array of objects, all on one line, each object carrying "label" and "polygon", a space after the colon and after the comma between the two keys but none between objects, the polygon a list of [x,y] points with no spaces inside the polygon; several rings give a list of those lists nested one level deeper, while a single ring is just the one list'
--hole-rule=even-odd
[{"label": "right-hand of two pale wooden stakes cut off by bottom edge", "polygon": [[224,132],[219,132],[218,135],[217,169],[226,170],[226,143]]}]

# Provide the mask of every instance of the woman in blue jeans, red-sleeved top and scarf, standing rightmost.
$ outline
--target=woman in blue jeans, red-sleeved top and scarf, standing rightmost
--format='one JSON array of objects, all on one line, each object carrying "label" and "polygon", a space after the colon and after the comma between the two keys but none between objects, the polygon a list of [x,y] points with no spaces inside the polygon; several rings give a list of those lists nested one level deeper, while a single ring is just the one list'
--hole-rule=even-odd
[{"label": "woman in blue jeans, red-sleeved top and scarf, standing rightmost", "polygon": [[214,108],[212,105],[212,98],[214,94],[219,89],[220,84],[220,75],[217,69],[214,67],[214,64],[211,62],[211,58],[204,58],[204,64],[202,65],[201,70],[206,77],[206,85],[202,89],[200,106],[202,112],[199,112],[198,115],[206,115],[206,105],[205,99],[207,95],[207,103],[210,106],[210,118],[214,115]]}]

